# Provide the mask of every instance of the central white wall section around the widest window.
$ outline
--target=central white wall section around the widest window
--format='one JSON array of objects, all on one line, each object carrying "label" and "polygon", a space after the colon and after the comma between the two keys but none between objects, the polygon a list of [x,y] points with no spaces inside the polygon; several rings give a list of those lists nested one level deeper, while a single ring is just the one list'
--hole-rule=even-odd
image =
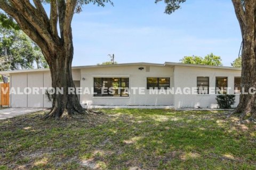
[{"label": "central white wall section around the widest window", "polygon": [[[144,67],[139,70],[139,67]],[[173,68],[163,66],[150,66],[150,71],[146,72],[146,65],[135,66],[117,66],[117,67],[103,67],[81,69],[81,87],[93,88],[93,78],[95,77],[109,77],[122,78],[129,77],[130,89],[132,87],[144,87],[147,89],[147,77],[166,77],[170,78],[171,87],[173,86]],[[174,105],[173,95],[149,95],[149,90],[145,90],[146,95],[139,95],[138,90],[136,94],[130,94],[129,97],[93,97],[93,95],[81,95],[81,103],[85,105]]]}]

